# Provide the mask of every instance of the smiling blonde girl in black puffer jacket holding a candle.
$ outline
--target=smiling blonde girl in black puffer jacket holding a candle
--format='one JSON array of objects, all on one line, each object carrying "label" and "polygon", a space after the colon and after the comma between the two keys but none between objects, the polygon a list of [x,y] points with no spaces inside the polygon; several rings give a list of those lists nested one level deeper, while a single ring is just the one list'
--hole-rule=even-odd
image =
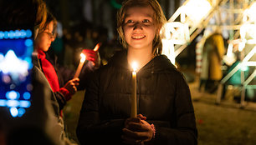
[{"label": "smiling blonde girl in black puffer jacket holding a candle", "polygon": [[[126,0],[117,18],[125,51],[95,72],[84,96],[81,144],[197,144],[187,82],[161,55],[166,22],[156,0]],[[131,114],[131,63],[137,62],[137,117]]]}]

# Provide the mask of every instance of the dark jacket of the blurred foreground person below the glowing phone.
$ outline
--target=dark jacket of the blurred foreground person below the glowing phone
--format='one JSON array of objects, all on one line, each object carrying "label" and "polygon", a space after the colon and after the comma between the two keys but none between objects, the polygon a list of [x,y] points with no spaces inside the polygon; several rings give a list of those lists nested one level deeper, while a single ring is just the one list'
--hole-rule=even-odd
[{"label": "dark jacket of the blurred foreground person below the glowing phone", "polygon": [[59,104],[40,69],[38,55],[32,58],[31,106],[25,108],[22,117],[12,117],[8,107],[0,107],[0,132],[7,133],[7,144],[36,144],[39,139],[41,144],[63,145],[64,124],[59,117]]}]

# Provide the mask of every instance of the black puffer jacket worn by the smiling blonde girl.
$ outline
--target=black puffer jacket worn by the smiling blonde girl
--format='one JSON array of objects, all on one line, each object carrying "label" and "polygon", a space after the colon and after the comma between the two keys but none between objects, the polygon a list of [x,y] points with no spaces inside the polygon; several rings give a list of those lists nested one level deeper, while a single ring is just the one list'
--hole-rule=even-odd
[{"label": "black puffer jacket worn by the smiling blonde girl", "polygon": [[[131,70],[127,52],[120,52],[91,77],[79,117],[79,142],[122,144],[130,97]],[[156,138],[145,144],[197,144],[189,87],[166,56],[153,58],[137,72],[137,103],[138,113],[156,127]]]}]

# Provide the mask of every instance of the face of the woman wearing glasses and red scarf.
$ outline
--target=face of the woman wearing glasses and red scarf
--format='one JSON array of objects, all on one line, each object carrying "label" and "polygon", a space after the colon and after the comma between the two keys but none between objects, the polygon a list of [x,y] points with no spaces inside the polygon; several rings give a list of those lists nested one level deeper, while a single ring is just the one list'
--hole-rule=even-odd
[{"label": "face of the woman wearing glasses and red scarf", "polygon": [[54,41],[54,23],[50,22],[44,32],[38,33],[38,37],[35,41],[35,47],[39,50],[47,52],[51,43]]}]

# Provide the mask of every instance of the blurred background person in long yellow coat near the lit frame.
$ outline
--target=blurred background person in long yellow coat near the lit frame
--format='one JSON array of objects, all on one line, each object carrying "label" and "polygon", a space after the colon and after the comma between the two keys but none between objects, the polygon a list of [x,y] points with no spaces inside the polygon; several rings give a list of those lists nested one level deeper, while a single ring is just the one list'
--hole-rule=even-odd
[{"label": "blurred background person in long yellow coat near the lit frame", "polygon": [[223,77],[222,61],[225,52],[223,36],[217,30],[209,35],[203,45],[202,72],[199,89],[205,84],[207,92],[215,92]]}]

